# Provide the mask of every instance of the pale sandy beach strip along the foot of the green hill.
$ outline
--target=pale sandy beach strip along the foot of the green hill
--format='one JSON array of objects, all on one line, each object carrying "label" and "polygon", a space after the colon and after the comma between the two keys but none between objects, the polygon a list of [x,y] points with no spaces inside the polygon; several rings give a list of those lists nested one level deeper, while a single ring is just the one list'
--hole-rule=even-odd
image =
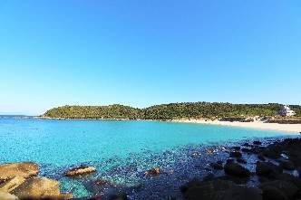
[{"label": "pale sandy beach strip along the foot of the green hill", "polygon": [[243,128],[252,128],[252,129],[271,129],[279,130],[290,133],[299,134],[301,132],[301,124],[277,124],[277,123],[263,123],[260,121],[255,122],[229,122],[229,121],[219,121],[219,120],[204,120],[204,119],[182,119],[174,120],[176,122],[184,123],[199,123],[199,124],[213,124],[220,126],[231,126],[231,127],[243,127]]}]

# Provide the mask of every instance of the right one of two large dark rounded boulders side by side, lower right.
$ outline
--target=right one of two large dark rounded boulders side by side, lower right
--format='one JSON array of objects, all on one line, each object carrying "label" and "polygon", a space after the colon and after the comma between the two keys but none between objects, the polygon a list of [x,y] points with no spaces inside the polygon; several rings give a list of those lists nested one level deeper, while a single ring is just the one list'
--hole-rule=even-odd
[{"label": "right one of two large dark rounded boulders side by side, lower right", "polygon": [[282,167],[278,167],[271,162],[259,162],[256,164],[257,176],[274,176],[275,174],[282,173]]}]

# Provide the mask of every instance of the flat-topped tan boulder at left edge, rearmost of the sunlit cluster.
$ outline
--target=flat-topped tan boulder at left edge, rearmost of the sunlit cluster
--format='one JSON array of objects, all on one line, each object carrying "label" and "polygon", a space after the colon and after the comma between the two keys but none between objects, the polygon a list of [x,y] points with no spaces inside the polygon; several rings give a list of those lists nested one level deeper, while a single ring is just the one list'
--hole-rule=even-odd
[{"label": "flat-topped tan boulder at left edge, rearmost of the sunlit cluster", "polygon": [[0,165],[0,182],[12,179],[15,176],[24,178],[36,176],[39,173],[39,166],[33,162],[10,163]]}]

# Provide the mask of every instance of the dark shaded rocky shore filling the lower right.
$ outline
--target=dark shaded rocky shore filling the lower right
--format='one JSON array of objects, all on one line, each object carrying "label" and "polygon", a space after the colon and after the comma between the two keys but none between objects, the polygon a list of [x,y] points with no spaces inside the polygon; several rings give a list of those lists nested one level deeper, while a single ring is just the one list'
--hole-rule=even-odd
[{"label": "dark shaded rocky shore filling the lower right", "polygon": [[[243,167],[244,154],[257,156],[255,172]],[[301,139],[287,138],[267,147],[261,142],[234,147],[225,164],[211,167],[224,170],[225,176],[210,174],[203,180],[193,179],[181,187],[186,200],[288,200],[301,199]],[[256,178],[255,186],[248,180]]]}]

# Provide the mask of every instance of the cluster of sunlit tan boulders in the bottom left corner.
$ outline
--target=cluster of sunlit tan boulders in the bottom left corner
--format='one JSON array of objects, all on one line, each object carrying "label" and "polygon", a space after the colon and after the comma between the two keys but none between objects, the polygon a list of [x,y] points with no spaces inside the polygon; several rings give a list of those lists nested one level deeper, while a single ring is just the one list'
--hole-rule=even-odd
[{"label": "cluster of sunlit tan boulders in the bottom left corner", "polygon": [[38,176],[39,166],[33,162],[0,165],[0,199],[71,199],[60,192],[59,182]]}]

